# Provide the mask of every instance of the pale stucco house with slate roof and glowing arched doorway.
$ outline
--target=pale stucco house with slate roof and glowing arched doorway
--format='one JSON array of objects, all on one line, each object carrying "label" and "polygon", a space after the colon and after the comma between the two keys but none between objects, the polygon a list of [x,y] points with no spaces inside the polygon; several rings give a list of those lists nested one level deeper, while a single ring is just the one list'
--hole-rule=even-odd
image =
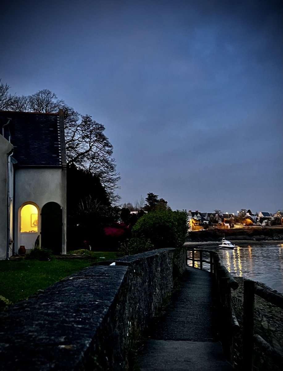
[{"label": "pale stucco house with slate roof and glowing arched doorway", "polygon": [[20,246],[66,254],[63,111],[0,111],[0,259]]}]

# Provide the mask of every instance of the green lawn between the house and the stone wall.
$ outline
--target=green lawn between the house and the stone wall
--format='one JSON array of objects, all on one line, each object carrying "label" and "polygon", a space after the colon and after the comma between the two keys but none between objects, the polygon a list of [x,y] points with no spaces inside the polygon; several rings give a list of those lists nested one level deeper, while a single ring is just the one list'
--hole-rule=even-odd
[{"label": "green lawn between the house and the stone wall", "polygon": [[[72,253],[72,252],[68,252]],[[88,267],[90,263],[114,259],[116,252],[91,252],[90,259],[52,259],[48,262],[38,260],[2,260],[0,261],[0,296],[10,303],[27,299],[53,283],[78,270]]]}]

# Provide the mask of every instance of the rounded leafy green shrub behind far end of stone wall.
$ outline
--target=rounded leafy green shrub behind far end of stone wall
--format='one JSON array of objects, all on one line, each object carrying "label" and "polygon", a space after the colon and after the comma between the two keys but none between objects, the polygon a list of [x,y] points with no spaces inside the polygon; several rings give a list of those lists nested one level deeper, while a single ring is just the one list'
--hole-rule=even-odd
[{"label": "rounded leafy green shrub behind far end of stone wall", "polygon": [[149,240],[154,249],[180,247],[187,236],[186,211],[160,209],[141,217],[134,225],[133,237]]}]

